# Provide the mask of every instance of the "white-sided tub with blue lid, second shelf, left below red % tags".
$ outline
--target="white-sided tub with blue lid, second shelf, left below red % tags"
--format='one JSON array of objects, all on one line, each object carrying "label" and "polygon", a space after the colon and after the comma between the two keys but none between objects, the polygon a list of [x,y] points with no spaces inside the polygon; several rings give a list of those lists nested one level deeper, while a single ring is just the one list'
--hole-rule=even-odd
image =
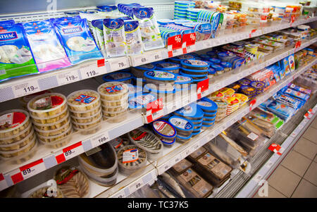
[{"label": "white-sided tub with blue lid, second shelf, left below red % tags", "polygon": [[148,70],[144,73],[144,77],[147,79],[149,87],[161,91],[173,91],[177,79],[174,73],[166,70]]}]

